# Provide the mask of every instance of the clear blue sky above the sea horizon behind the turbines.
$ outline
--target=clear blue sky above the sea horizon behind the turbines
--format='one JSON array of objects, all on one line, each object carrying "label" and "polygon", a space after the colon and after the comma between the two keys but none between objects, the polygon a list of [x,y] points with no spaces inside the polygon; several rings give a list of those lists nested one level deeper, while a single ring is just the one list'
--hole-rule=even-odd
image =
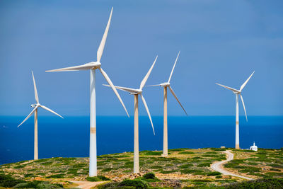
[{"label": "clear blue sky above the sea horizon behind the turbines", "polygon": [[[283,115],[283,1],[0,1],[0,115],[28,115],[35,102],[63,116],[88,115],[89,71],[45,73],[101,59],[118,86],[168,79],[189,115],[234,115],[235,96],[215,82],[243,89],[248,115]],[[96,75],[98,115],[126,115]],[[130,115],[133,97],[120,91]],[[152,115],[163,114],[162,88],[145,88]],[[140,114],[146,111],[140,100]],[[50,115],[43,110],[40,115]],[[168,115],[185,115],[168,94]],[[243,108],[240,104],[240,115]]]}]

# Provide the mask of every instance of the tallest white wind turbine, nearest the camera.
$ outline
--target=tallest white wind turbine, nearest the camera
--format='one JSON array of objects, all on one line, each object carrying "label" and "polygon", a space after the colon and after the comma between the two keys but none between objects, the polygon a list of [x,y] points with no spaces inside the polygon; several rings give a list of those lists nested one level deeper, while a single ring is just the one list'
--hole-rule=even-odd
[{"label": "tallest white wind turbine, nearest the camera", "polygon": [[[103,54],[103,49],[105,46],[105,42],[106,42],[106,38],[108,35],[108,30],[109,30],[109,26],[110,26],[110,21],[111,21],[111,17],[112,17],[112,11],[113,8],[111,8],[111,13],[109,16],[109,20],[107,23],[107,26],[105,28],[105,32],[103,34],[103,38],[100,42],[100,45],[98,47],[98,51],[97,51],[97,60],[96,62],[89,62],[86,64],[82,64],[76,67],[66,67],[66,68],[61,68],[61,69],[53,69],[53,70],[49,70],[46,72],[53,72],[53,71],[80,71],[80,70],[90,70],[91,71],[91,85],[90,85],[90,91],[91,91],[91,110],[90,110],[90,122],[91,122],[91,131],[90,131],[90,147],[89,147],[89,176],[97,176],[97,153],[96,153],[96,69],[99,69],[99,71],[101,72],[101,74],[103,74],[103,76],[105,77],[106,81],[108,82],[108,84],[110,84],[112,90],[114,91],[115,95],[117,96],[117,98],[119,99],[120,103],[122,103],[122,106],[124,107],[126,113],[127,113],[127,109],[122,101],[122,99],[120,98],[119,93],[117,92],[116,88],[114,87],[114,85],[112,84],[112,81],[110,80],[110,78],[108,77],[108,75],[106,74],[106,72],[101,68],[101,63],[100,63],[100,59],[102,57]],[[128,117],[129,114],[127,113]]]}]

